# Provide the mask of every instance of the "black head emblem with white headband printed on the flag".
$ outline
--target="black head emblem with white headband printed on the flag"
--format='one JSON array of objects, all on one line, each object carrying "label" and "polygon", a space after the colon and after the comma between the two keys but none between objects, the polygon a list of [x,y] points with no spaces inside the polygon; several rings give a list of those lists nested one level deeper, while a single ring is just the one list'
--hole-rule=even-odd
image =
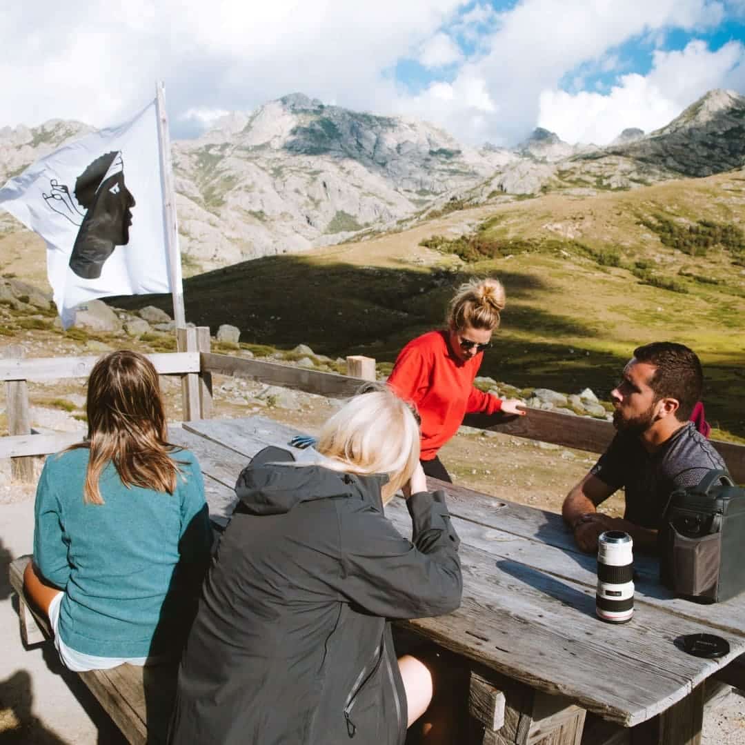
[{"label": "black head emblem with white headband printed on the flag", "polygon": [[50,193],[42,194],[47,205],[80,227],[70,268],[83,279],[98,279],[104,261],[115,247],[126,246],[130,241],[135,200],[124,184],[121,153],[96,158],[75,180],[75,197],[68,186],[56,179],[51,179],[49,186]]}]

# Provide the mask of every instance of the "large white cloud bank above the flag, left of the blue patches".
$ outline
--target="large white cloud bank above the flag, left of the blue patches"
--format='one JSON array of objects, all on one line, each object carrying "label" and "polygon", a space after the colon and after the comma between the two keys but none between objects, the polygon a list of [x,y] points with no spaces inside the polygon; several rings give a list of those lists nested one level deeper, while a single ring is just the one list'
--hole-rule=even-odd
[{"label": "large white cloud bank above the flag, left of the blue patches", "polygon": [[[463,0],[104,0],[13,3],[0,16],[0,126],[125,118],[166,83],[188,109],[251,110],[288,92],[390,110],[402,57]],[[122,8],[124,10],[122,10]]]}]

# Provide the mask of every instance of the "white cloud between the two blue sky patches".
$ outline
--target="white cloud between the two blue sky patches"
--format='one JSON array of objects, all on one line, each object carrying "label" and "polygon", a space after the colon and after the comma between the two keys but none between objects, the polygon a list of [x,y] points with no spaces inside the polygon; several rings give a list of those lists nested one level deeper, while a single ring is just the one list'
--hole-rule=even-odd
[{"label": "white cloud between the two blue sky patches", "polygon": [[[704,28],[721,13],[720,3],[706,0],[522,0],[499,14],[484,41],[489,53],[460,69],[448,109],[430,118],[472,142],[514,142],[535,126],[541,92],[557,89],[568,72],[603,60],[633,37],[668,27]],[[475,81],[498,109],[478,126],[479,113],[466,100]],[[399,107],[421,113],[427,100],[425,92]]]}]

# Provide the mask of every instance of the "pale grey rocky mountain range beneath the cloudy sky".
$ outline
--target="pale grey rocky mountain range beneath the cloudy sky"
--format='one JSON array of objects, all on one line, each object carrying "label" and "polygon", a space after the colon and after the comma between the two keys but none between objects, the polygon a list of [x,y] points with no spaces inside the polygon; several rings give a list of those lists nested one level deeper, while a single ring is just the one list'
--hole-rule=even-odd
[{"label": "pale grey rocky mountain range beneath the cloudy sky", "polygon": [[[513,150],[477,150],[422,121],[288,95],[173,143],[185,271],[369,238],[464,205],[728,171],[745,164],[744,116],[743,96],[715,90],[661,130],[624,130],[606,148],[539,128]],[[88,131],[60,120],[0,129],[0,180]],[[34,240],[3,212],[0,231]]]}]

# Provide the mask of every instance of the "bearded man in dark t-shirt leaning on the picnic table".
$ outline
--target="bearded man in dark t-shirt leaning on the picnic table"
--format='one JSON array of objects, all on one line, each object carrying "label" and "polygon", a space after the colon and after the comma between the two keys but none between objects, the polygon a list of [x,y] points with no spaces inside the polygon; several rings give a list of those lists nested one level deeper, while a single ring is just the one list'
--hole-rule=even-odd
[{"label": "bearded man in dark t-shirt leaning on the picnic table", "polygon": [[[612,390],[618,430],[608,449],[562,505],[562,516],[583,551],[597,551],[604,530],[624,530],[635,548],[654,551],[673,489],[698,484],[710,469],[726,469],[719,453],[689,422],[701,396],[703,373],[687,346],[656,341],[634,349]],[[626,491],[623,518],[596,507]]]}]

